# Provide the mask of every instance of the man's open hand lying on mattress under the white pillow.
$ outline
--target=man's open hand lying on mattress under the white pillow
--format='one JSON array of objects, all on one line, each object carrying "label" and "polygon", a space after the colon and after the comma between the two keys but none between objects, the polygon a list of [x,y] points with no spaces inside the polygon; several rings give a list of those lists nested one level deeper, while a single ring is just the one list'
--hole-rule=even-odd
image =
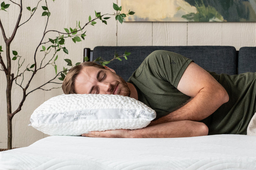
[{"label": "man's open hand lying on mattress under the white pillow", "polygon": [[82,134],[82,136],[93,138],[129,138],[128,129],[116,129],[108,131],[91,131],[88,134]]}]

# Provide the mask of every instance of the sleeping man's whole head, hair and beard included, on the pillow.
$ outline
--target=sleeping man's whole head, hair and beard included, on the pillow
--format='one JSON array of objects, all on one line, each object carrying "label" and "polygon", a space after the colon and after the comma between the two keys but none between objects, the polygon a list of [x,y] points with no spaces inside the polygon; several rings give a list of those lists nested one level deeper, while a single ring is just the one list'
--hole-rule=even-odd
[{"label": "sleeping man's whole head, hair and beard included, on the pillow", "polygon": [[84,62],[67,73],[62,90],[65,94],[119,94],[130,96],[127,83],[107,66]]}]

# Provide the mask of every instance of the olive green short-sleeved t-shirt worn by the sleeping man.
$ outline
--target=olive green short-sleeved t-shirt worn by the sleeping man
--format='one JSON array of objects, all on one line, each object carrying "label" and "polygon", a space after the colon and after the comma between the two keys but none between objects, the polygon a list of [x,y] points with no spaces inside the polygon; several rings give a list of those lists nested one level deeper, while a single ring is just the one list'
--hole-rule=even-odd
[{"label": "olive green short-sleeved t-shirt worn by the sleeping man", "polygon": [[[138,100],[163,117],[190,99],[177,90],[178,83],[192,60],[164,50],[151,53],[129,78]],[[204,122],[209,134],[246,134],[251,117],[256,112],[256,73],[229,76],[209,72],[228,92],[229,101],[219,107]]]}]

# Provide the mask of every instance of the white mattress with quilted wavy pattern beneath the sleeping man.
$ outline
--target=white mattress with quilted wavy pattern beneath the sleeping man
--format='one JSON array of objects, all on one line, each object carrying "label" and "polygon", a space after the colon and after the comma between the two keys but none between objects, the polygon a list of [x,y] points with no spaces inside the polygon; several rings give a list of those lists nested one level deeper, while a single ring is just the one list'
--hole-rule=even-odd
[{"label": "white mattress with quilted wavy pattern beneath the sleeping man", "polygon": [[0,152],[0,169],[256,169],[256,137],[87,138],[50,136]]}]

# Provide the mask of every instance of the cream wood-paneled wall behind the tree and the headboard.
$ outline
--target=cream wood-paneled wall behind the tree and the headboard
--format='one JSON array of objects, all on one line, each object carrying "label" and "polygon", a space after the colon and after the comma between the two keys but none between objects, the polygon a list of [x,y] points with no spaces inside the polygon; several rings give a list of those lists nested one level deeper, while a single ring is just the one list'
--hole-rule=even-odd
[{"label": "cream wood-paneled wall behind the tree and the headboard", "polygon": [[[19,3],[18,0],[15,2]],[[21,22],[25,22],[30,17],[31,9],[37,5],[38,1],[24,0],[23,16]],[[94,10],[101,14],[114,13],[112,3],[121,5],[120,0],[48,0],[48,9],[51,12],[47,30],[55,29],[64,32],[63,28],[75,27],[76,21],[84,25],[88,21],[89,15],[95,16]],[[4,25],[6,34],[11,36],[12,30],[19,15],[19,8],[12,2],[5,0],[5,3],[11,4],[8,12],[0,11],[0,18]],[[39,3],[38,11],[35,16],[22,25],[12,42],[11,50],[16,50],[20,56],[25,59],[24,66],[33,64],[33,56],[46,24],[46,17],[42,17],[41,6],[44,1]],[[136,12],[136,11],[134,11]],[[61,52],[57,60],[58,71],[61,71],[66,62],[63,59],[71,59],[73,63],[83,60],[83,49],[85,47],[93,49],[95,46],[193,46],[193,45],[221,45],[234,46],[239,50],[242,46],[255,46],[256,23],[192,23],[192,22],[124,22],[122,25],[116,22],[114,18],[107,20],[108,25],[101,21],[95,26],[86,26],[86,37],[82,42],[73,43],[71,39],[66,41],[66,48],[69,54]],[[56,34],[49,34],[48,38],[54,39]],[[5,44],[0,34],[0,46],[3,47],[5,56]],[[38,60],[44,55],[37,52]],[[5,59],[6,60],[6,59]],[[17,60],[12,61],[12,70],[17,73]],[[40,86],[48,81],[50,77],[55,76],[52,66],[38,72],[35,79],[31,82],[30,90]],[[0,148],[7,147],[7,115],[6,115],[6,80],[3,71],[0,71]],[[24,82],[27,81],[25,77]],[[51,87],[51,86],[48,86]],[[12,91],[12,110],[19,105],[22,97],[20,87],[13,85]],[[27,126],[30,121],[30,115],[34,109],[49,98],[62,94],[61,89],[52,91],[37,90],[30,94],[22,110],[13,118],[13,147],[24,147],[33,142],[44,138],[45,135],[31,126]]]}]

